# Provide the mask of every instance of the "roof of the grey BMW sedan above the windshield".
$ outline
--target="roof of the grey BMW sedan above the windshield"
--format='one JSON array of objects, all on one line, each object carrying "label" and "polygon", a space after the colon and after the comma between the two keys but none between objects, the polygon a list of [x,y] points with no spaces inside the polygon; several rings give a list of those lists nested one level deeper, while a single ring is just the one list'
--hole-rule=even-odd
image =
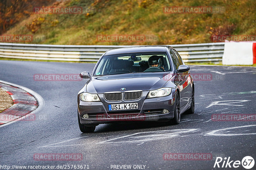
[{"label": "roof of the grey BMW sedan above the windshield", "polygon": [[[108,50],[105,55],[136,53],[136,52],[165,52],[165,48],[171,46],[131,46],[125,48],[116,48]],[[172,48],[172,47],[171,47]]]}]

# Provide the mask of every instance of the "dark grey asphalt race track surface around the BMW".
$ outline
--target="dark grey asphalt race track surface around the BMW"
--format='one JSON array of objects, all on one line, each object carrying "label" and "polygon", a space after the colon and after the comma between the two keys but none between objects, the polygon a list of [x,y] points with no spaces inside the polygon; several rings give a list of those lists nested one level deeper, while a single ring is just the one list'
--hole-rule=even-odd
[{"label": "dark grey asphalt race track surface around the BMW", "polygon": [[[152,170],[191,170],[214,169],[218,156],[240,161],[252,156],[256,160],[255,121],[210,121],[212,114],[255,114],[256,68],[191,66],[191,73],[211,74],[212,80],[195,81],[195,114],[182,115],[179,125],[101,124],[94,133],[81,133],[76,97],[86,80],[34,81],[33,75],[91,73],[93,67],[89,63],[0,60],[0,80],[32,89],[45,101],[35,121],[0,127],[0,165],[76,164],[111,169],[111,165],[126,164]],[[212,160],[163,160],[163,153],[195,152],[211,153]],[[36,161],[35,153],[81,153],[83,159]]]}]

